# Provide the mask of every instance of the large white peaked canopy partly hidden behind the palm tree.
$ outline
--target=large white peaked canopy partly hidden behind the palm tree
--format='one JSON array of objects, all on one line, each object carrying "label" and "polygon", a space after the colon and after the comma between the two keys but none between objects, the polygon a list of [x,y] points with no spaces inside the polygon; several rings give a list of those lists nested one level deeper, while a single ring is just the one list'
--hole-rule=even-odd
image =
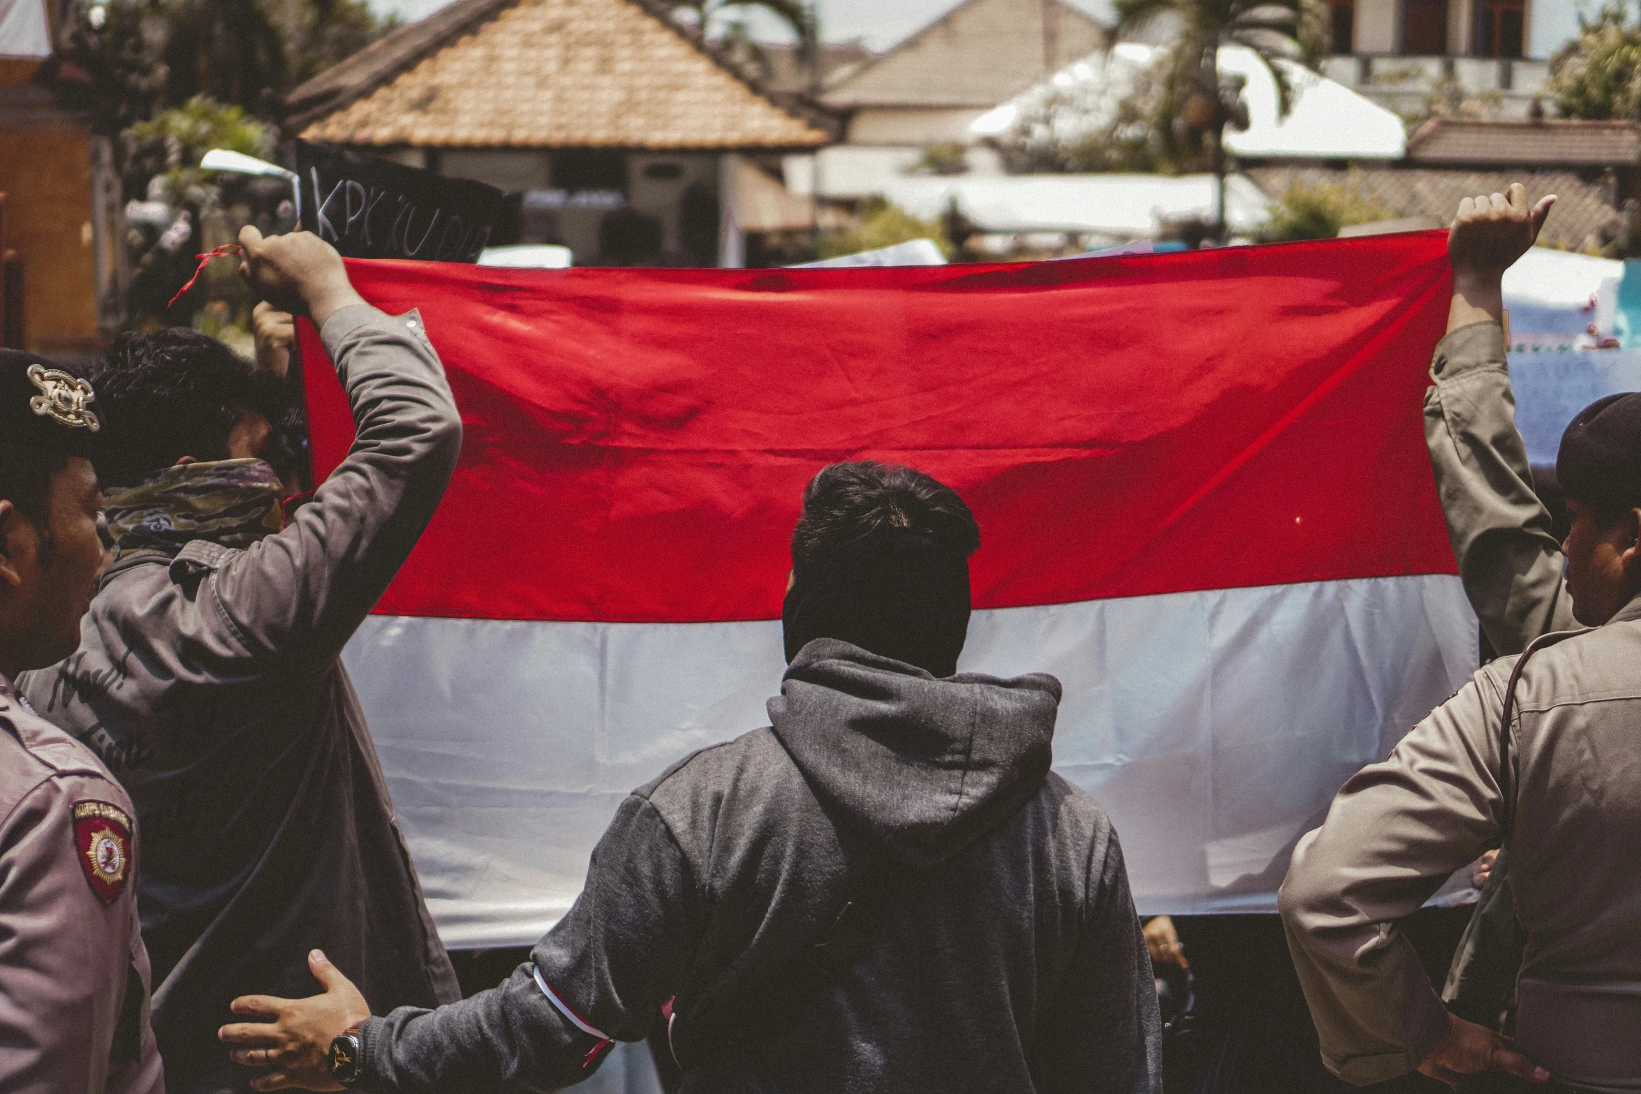
[{"label": "large white peaked canopy partly hidden behind the palm tree", "polygon": [[[1021,118],[1052,118],[1058,136],[1080,134],[1109,123],[1118,103],[1132,93],[1137,77],[1163,57],[1162,46],[1122,43],[1111,54],[1095,52],[1055,72],[970,125],[975,136],[999,136]],[[1247,79],[1242,100],[1249,128],[1226,133],[1226,148],[1246,157],[1401,159],[1406,128],[1401,118],[1344,84],[1303,66],[1278,61],[1295,92],[1291,110],[1277,116],[1277,80],[1246,46],[1219,48],[1219,72]]]}]

